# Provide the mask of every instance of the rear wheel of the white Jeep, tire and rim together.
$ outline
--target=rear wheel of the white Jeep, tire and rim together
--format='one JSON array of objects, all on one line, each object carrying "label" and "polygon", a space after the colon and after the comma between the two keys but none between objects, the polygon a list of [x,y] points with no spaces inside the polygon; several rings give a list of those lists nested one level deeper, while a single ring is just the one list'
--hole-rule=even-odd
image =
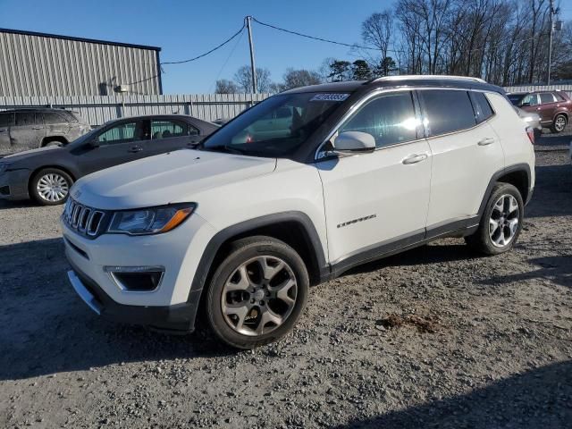
[{"label": "rear wheel of the white Jeep, tire and rim together", "polygon": [[522,230],[523,217],[524,204],[518,189],[509,183],[497,183],[484,207],[478,229],[465,240],[484,255],[508,252]]}]

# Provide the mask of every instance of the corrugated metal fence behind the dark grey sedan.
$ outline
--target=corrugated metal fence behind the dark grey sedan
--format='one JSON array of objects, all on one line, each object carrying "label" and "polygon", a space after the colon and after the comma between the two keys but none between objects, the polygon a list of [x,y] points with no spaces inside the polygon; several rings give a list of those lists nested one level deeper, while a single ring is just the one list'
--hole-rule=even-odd
[{"label": "corrugated metal fence behind the dark grey sedan", "polygon": [[91,125],[140,114],[189,114],[205,121],[232,118],[269,94],[174,96],[0,97],[0,110],[61,107],[80,112]]}]

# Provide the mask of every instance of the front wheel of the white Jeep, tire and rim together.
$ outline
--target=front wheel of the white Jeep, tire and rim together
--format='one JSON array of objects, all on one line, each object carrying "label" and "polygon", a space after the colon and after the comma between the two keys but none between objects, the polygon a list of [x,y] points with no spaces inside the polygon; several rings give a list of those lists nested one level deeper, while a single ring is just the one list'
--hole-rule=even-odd
[{"label": "front wheel of the white Jeep, tire and rim together", "polygon": [[308,289],[306,265],[286,243],[265,236],[237,240],[208,286],[207,323],[231,347],[263,346],[292,330]]}]

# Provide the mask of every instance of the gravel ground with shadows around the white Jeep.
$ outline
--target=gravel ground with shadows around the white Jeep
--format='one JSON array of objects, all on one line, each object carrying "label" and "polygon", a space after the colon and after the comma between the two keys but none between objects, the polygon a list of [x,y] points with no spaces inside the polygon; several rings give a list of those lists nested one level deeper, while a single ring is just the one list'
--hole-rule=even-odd
[{"label": "gravel ground with shadows around the white Jeep", "polygon": [[512,252],[448,239],[367,265],[248,352],[98,319],[61,207],[0,203],[0,427],[570,427],[571,134],[537,145]]}]

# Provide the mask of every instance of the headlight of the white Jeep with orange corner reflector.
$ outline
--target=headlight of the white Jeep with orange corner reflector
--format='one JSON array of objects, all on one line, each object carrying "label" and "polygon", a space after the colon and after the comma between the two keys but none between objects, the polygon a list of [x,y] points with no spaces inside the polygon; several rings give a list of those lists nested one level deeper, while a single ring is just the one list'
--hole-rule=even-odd
[{"label": "headlight of the white Jeep with orange corner reflector", "polygon": [[171,231],[189,217],[196,204],[176,204],[115,212],[108,232],[147,235]]}]

